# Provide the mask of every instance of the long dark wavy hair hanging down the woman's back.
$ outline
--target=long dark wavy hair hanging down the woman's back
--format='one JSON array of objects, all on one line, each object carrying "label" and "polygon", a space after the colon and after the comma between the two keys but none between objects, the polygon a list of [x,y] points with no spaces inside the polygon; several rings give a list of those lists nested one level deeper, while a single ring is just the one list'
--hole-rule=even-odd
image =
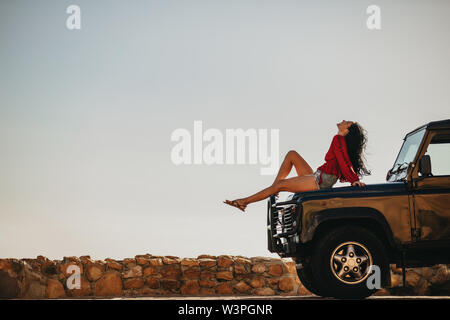
[{"label": "long dark wavy hair hanging down the woman's back", "polygon": [[353,165],[355,173],[362,177],[363,175],[370,175],[371,172],[366,168],[365,156],[363,152],[367,145],[367,133],[363,127],[357,122],[354,122],[345,135],[345,142],[347,143],[348,157]]}]

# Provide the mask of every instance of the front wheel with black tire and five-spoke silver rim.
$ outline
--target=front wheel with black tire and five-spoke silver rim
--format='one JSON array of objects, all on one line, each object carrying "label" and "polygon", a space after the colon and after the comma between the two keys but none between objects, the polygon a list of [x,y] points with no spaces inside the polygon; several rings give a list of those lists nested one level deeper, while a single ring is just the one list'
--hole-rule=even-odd
[{"label": "front wheel with black tire and five-spoke silver rim", "polygon": [[363,227],[343,226],[317,242],[311,270],[316,289],[324,296],[363,299],[377,291],[367,285],[371,265],[380,268],[380,283],[387,283],[390,270],[381,241]]}]

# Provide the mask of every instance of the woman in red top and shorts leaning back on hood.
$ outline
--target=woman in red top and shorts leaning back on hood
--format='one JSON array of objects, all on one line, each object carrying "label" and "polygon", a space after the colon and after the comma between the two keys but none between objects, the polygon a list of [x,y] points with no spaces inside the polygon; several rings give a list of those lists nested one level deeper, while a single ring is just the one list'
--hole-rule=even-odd
[{"label": "woman in red top and shorts leaning back on hood", "polygon": [[[365,183],[359,181],[359,176],[370,174],[364,165],[362,154],[367,142],[365,130],[357,122],[345,120],[337,123],[337,127],[338,133],[333,137],[325,155],[325,163],[315,172],[297,152],[291,150],[286,154],[270,187],[250,197],[225,200],[224,203],[245,211],[249,203],[266,199],[273,194],[278,195],[280,191],[296,193],[331,188],[338,179],[340,182],[350,182],[352,186],[364,187]],[[292,166],[298,177],[285,179]]]}]

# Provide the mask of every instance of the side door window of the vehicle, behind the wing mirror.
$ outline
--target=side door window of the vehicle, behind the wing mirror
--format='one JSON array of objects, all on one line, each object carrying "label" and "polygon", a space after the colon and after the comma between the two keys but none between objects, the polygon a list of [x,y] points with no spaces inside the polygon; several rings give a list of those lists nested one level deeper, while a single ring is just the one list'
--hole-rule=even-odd
[{"label": "side door window of the vehicle, behind the wing mirror", "polygon": [[433,176],[450,175],[450,141],[443,137],[434,136],[425,153],[430,156]]}]

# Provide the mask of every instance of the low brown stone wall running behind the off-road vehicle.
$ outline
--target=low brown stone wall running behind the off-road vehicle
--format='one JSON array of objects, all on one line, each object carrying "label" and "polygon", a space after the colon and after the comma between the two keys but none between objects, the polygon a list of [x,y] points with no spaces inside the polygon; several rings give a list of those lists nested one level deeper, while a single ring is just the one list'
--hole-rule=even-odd
[{"label": "low brown stone wall running behind the off-road vehicle", "polygon": [[[407,269],[392,267],[392,288],[376,295],[449,295],[447,265]],[[73,269],[80,271],[79,288]],[[138,296],[310,295],[290,259],[242,256],[179,258],[138,255],[123,260],[89,256],[49,260],[0,259],[0,298],[76,298]]]}]

